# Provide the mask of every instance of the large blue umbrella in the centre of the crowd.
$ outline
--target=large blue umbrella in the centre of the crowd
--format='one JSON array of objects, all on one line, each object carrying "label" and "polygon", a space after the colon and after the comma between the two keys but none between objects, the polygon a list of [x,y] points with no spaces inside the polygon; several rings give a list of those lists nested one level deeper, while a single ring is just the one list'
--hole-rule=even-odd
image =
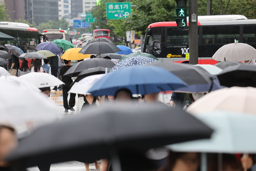
[{"label": "large blue umbrella in the centre of the crowd", "polygon": [[117,90],[129,89],[132,94],[172,91],[187,86],[174,74],[155,66],[132,66],[110,72],[89,90],[93,96],[114,96]]}]

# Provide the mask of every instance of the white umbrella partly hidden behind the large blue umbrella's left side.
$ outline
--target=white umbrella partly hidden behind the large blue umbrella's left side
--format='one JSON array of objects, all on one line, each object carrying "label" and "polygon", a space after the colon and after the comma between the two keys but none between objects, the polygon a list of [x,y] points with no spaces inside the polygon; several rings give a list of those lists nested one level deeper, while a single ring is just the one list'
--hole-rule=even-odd
[{"label": "white umbrella partly hidden behind the large blue umbrella's left side", "polygon": [[87,94],[93,85],[106,74],[90,75],[75,82],[68,93]]}]

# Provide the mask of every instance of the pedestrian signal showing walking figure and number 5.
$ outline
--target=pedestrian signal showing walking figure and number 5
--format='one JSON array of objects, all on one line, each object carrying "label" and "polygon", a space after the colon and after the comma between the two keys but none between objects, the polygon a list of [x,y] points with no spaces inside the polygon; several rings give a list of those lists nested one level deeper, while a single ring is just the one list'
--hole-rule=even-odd
[{"label": "pedestrian signal showing walking figure and number 5", "polygon": [[187,0],[176,0],[177,8],[175,9],[177,14],[177,27],[178,28],[188,28],[187,27]]}]

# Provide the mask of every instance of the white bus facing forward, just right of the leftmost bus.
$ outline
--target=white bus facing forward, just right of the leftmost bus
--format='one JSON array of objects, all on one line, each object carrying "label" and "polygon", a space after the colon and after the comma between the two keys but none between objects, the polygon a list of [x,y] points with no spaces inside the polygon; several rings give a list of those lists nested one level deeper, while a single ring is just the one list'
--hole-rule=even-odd
[{"label": "white bus facing forward, just right of the leftmost bus", "polygon": [[72,39],[69,37],[69,34],[66,30],[47,29],[43,30],[42,35],[44,35],[42,37],[43,42],[52,42],[55,39],[64,39],[72,43]]}]

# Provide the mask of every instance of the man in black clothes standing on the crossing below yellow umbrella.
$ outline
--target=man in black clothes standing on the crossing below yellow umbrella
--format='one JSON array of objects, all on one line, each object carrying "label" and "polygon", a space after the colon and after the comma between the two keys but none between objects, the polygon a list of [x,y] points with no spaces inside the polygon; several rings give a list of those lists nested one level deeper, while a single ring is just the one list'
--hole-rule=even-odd
[{"label": "man in black clothes standing on the crossing below yellow umbrella", "polygon": [[68,91],[70,90],[70,85],[73,82],[71,77],[68,76],[63,76],[67,70],[71,67],[69,66],[71,64],[71,61],[67,61],[64,59],[65,66],[60,68],[60,78],[61,80],[65,83],[65,85],[62,85],[62,94],[63,94],[63,107],[65,108],[65,113],[68,113],[68,109],[71,111],[75,111],[73,108],[75,106],[75,97],[76,94],[70,93],[70,98],[69,98],[69,105],[68,105]]}]

